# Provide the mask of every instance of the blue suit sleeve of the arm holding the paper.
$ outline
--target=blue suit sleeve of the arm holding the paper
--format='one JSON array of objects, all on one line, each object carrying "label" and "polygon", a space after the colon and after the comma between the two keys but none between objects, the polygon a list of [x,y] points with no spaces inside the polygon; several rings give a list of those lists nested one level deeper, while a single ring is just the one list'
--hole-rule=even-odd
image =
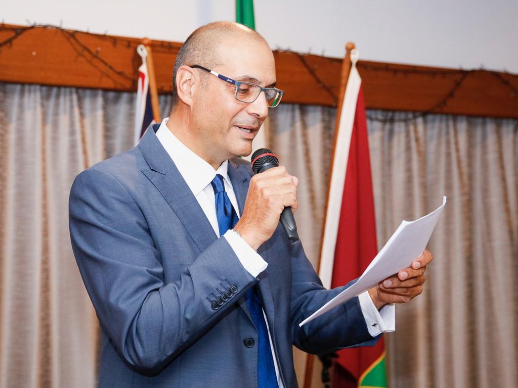
[{"label": "blue suit sleeve of the arm holding the paper", "polygon": [[344,287],[327,290],[307,259],[299,242],[291,244],[291,328],[294,345],[308,353],[375,345],[379,336],[369,334],[358,297],[299,327],[299,323],[338,295]]}]

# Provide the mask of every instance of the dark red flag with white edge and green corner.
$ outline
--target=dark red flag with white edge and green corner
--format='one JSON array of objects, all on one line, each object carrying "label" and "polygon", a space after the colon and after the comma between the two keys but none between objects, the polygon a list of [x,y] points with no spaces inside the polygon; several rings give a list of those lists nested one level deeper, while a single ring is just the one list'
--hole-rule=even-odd
[{"label": "dark red flag with white edge and green corner", "polygon": [[[378,253],[365,104],[354,50],[351,58],[338,118],[321,252],[320,278],[326,288],[343,286],[360,276]],[[341,367],[355,378],[354,386],[386,387],[384,356],[383,338],[375,347],[340,350],[333,386],[347,386],[337,381],[348,375]]]}]

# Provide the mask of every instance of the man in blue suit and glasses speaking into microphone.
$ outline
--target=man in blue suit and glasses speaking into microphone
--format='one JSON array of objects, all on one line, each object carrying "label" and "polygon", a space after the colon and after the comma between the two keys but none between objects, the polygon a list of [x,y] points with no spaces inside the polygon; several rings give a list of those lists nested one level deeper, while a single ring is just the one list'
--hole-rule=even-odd
[{"label": "man in blue suit and glasses speaking into microphone", "polygon": [[70,235],[102,328],[99,386],[297,386],[292,345],[372,345],[393,330],[390,304],[421,293],[428,252],[298,326],[341,288],[325,290],[279,226],[297,178],[235,159],[282,97],[275,83],[260,35],[200,27],[178,54],[169,118],[77,176]]}]

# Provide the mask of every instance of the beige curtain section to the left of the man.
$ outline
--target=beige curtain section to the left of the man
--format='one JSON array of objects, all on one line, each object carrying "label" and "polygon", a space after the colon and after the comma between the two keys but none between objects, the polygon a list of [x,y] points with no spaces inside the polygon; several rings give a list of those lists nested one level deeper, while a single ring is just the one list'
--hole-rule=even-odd
[{"label": "beige curtain section to the left of the man", "polygon": [[[96,385],[98,323],[68,193],[133,142],[135,94],[0,83],[0,387]],[[168,97],[161,98],[167,114]]]}]

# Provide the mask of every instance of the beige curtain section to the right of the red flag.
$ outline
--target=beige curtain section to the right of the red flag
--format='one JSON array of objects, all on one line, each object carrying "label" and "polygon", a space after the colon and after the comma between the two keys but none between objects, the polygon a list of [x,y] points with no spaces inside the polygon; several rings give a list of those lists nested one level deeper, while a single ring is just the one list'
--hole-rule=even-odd
[{"label": "beige curtain section to the right of the red flag", "polygon": [[425,292],[386,336],[391,387],[518,386],[518,121],[390,117],[368,123],[379,245],[448,196]]}]

